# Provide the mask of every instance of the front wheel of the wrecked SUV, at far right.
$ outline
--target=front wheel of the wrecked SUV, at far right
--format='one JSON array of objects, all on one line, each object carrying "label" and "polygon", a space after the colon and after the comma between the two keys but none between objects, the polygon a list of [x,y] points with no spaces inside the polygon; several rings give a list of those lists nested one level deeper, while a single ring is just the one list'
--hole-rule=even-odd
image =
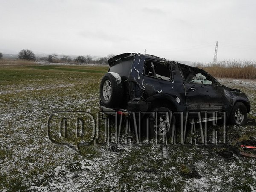
[{"label": "front wheel of the wrecked SUV, at far right", "polygon": [[230,113],[230,123],[232,125],[245,125],[247,122],[247,108],[241,102],[236,102]]}]

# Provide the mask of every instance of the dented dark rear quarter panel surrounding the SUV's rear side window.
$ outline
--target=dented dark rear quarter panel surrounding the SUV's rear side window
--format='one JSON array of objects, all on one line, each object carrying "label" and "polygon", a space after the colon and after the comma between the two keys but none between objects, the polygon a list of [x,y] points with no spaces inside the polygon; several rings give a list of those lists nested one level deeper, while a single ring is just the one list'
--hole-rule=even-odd
[{"label": "dented dark rear quarter panel surrounding the SUV's rear side window", "polygon": [[[146,76],[143,73],[145,60],[167,62],[166,64],[170,66],[170,73],[172,74],[172,77],[169,80],[163,80]],[[149,103],[164,99],[172,102],[172,104],[175,106],[175,110],[186,110],[185,89],[177,63],[169,62],[162,58],[138,54],[134,58],[134,65],[131,68],[128,81],[131,82],[129,90],[131,100],[138,98],[138,96],[140,96],[142,101]],[[137,86],[134,86],[134,84]],[[135,87],[137,87],[137,89]]]}]

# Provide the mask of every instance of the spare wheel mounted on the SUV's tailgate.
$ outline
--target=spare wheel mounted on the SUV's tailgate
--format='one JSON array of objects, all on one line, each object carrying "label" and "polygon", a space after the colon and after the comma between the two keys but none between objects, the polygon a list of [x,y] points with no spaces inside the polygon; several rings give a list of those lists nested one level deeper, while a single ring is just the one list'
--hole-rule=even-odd
[{"label": "spare wheel mounted on the SUV's tailgate", "polygon": [[107,108],[114,108],[121,104],[124,95],[121,77],[118,73],[106,73],[100,84],[100,99]]}]

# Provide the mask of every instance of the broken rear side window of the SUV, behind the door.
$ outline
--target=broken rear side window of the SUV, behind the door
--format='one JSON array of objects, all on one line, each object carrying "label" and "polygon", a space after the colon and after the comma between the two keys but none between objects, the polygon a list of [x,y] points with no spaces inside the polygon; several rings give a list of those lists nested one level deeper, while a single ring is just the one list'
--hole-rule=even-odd
[{"label": "broken rear side window of the SUV, behind the door", "polygon": [[172,79],[170,64],[163,62],[147,60],[145,62],[144,74],[168,81]]}]

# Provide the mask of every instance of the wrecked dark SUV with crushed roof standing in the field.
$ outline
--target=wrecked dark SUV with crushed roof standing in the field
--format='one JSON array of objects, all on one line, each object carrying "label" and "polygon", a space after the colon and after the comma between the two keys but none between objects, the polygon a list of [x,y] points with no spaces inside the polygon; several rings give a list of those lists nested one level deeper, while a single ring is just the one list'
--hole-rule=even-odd
[{"label": "wrecked dark SUV with crushed roof standing in the field", "polygon": [[[224,112],[234,125],[244,125],[250,103],[237,89],[221,85],[206,71],[154,55],[123,53],[108,60],[110,66],[100,84],[100,110]],[[207,118],[205,118],[207,119]],[[211,118],[209,118],[211,119]],[[160,116],[161,130],[170,126]]]}]

